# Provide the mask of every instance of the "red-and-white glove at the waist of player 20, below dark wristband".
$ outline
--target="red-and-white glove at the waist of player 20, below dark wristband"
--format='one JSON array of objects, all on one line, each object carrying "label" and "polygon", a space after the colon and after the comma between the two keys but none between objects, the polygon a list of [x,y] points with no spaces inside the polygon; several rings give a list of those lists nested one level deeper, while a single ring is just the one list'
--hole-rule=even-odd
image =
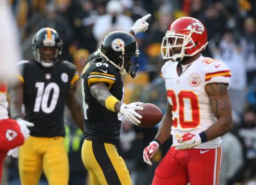
[{"label": "red-and-white glove at the waist of player 20, below dark wristband", "polygon": [[201,137],[198,133],[185,133],[179,140],[177,144],[172,146],[175,147],[176,150],[185,150],[194,148],[202,143]]}]

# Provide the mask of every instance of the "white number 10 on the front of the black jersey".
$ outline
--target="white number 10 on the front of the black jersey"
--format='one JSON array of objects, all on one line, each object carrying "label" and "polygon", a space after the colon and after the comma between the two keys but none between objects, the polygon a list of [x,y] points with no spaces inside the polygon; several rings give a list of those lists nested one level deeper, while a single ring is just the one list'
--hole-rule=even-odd
[{"label": "white number 10 on the front of the black jersey", "polygon": [[[39,112],[41,107],[43,112],[51,113],[56,107],[60,95],[60,87],[54,82],[49,83],[46,87],[44,87],[44,82],[36,82],[35,87],[38,92],[36,93],[34,112]],[[52,90],[52,99],[48,106],[49,95]]]}]

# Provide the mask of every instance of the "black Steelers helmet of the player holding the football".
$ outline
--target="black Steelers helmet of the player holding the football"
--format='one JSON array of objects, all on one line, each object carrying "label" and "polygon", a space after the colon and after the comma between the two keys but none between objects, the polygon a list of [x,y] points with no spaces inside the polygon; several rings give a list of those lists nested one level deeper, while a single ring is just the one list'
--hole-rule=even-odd
[{"label": "black Steelers helmet of the player holding the football", "polygon": [[139,50],[133,35],[122,31],[110,32],[103,39],[98,52],[119,70],[119,74],[124,76],[128,73],[131,77],[135,77],[139,67],[137,64]]}]

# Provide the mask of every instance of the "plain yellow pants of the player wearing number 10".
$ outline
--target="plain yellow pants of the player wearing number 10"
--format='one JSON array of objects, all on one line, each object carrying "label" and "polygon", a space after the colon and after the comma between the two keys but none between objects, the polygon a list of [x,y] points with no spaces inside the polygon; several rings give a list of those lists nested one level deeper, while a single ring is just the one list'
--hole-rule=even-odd
[{"label": "plain yellow pants of the player wearing number 10", "polygon": [[49,185],[67,185],[68,155],[64,137],[30,136],[19,150],[19,176],[22,185],[38,185],[42,171]]}]

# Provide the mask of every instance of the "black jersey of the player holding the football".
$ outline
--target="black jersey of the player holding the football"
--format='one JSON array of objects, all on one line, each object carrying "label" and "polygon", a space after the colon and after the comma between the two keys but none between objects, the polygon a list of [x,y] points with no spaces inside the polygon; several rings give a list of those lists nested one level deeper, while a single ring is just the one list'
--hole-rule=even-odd
[{"label": "black jersey of the player holding the football", "polygon": [[99,54],[93,53],[89,58],[81,81],[85,139],[118,144],[121,113],[112,112],[102,106],[90,94],[90,86],[96,82],[104,82],[108,85],[110,93],[122,101],[124,90],[121,75]]}]

